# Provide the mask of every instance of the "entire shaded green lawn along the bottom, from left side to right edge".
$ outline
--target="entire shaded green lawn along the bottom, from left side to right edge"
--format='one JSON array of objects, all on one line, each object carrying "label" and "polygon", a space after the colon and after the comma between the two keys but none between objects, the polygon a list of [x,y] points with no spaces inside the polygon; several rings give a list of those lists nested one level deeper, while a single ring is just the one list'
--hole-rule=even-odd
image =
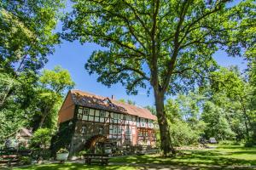
[{"label": "entire shaded green lawn along the bottom, from left side to right edge", "polygon": [[[15,170],[43,170],[43,169],[60,169],[60,170],[79,170],[79,169],[138,169],[139,167],[150,167],[152,164],[170,165],[177,167],[212,167],[218,168],[227,166],[256,166],[256,147],[245,148],[239,145],[218,145],[216,149],[207,150],[186,150],[180,156],[164,158],[160,155],[145,155],[145,156],[123,156],[112,158],[112,164],[107,167],[102,166],[87,166],[79,163],[65,164],[45,164],[30,167],[16,167]],[[135,164],[141,164],[137,167]],[[119,164],[119,165],[118,165]],[[250,169],[253,167],[241,167],[241,169]]]}]

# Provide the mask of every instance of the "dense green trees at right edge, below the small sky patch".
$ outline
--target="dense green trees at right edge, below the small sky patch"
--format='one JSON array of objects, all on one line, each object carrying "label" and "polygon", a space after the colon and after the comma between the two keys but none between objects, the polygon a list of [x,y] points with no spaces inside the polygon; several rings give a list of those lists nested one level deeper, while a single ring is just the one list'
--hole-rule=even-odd
[{"label": "dense green trees at right edge, below the small sky patch", "polygon": [[[249,78],[251,81],[251,77]],[[233,131],[239,133],[238,131],[242,130],[246,139],[251,139],[255,122],[253,119],[255,108],[251,106],[250,101],[255,98],[255,94],[253,94],[255,84],[251,84],[247,82],[247,79],[241,77],[241,73],[236,67],[230,67],[230,69],[222,68],[220,71],[212,73],[211,88],[215,93],[212,95],[213,103],[224,108],[224,116],[231,122]]]}]

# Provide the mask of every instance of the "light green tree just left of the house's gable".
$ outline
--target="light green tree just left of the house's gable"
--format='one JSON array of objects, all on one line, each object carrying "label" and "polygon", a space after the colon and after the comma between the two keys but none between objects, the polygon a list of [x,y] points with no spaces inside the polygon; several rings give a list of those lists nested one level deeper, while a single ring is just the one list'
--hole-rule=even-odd
[{"label": "light green tree just left of the house's gable", "polygon": [[[57,112],[64,99],[64,94],[74,85],[70,73],[62,69],[61,66],[55,66],[53,71],[43,71],[42,76],[39,77],[38,99],[36,99],[39,113],[35,116],[38,116],[39,121],[33,122],[33,127],[35,127],[33,130],[40,127],[56,127]],[[47,118],[48,124],[45,123]],[[52,126],[52,124],[54,125]]]}]

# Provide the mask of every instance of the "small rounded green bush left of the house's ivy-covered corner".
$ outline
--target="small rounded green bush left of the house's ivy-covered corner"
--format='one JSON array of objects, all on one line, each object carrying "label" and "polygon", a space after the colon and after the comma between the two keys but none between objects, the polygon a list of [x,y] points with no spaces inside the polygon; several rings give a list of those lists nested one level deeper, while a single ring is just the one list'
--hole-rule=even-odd
[{"label": "small rounded green bush left of the house's ivy-covered corner", "polygon": [[49,128],[39,128],[35,133],[33,133],[30,146],[32,148],[45,150],[49,148],[51,137],[52,132]]}]

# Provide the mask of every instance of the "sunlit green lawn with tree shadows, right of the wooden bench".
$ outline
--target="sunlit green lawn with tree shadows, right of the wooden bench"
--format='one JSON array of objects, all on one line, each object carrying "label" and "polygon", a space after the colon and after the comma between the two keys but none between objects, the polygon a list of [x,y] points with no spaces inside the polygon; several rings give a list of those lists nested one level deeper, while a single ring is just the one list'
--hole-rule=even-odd
[{"label": "sunlit green lawn with tree shadows, right of the wooden bench", "polygon": [[126,156],[111,161],[130,163],[158,163],[181,166],[256,166],[256,147],[245,148],[239,145],[218,145],[216,149],[186,150],[183,155],[164,158],[159,155]]}]

